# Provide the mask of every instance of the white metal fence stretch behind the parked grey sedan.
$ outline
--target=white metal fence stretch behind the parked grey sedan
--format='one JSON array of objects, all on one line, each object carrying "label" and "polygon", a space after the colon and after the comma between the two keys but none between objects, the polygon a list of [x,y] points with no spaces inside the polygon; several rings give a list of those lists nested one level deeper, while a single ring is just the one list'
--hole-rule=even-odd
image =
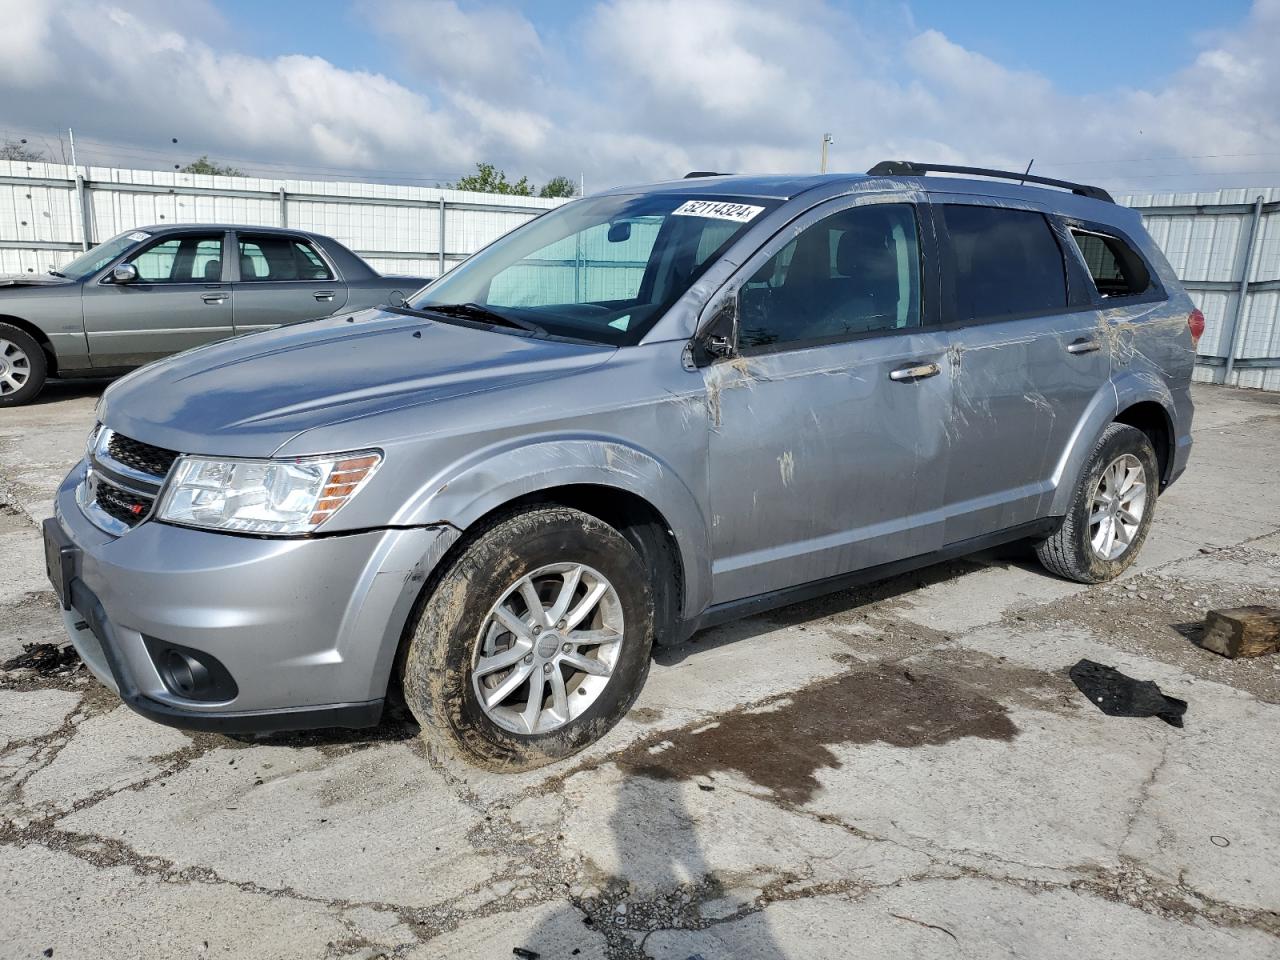
[{"label": "white metal fence stretch behind the parked grey sedan", "polygon": [[562,200],[0,161],[0,273],[44,273],[122,230],[236,223],[315,230],[381,273],[439,276]]}]

